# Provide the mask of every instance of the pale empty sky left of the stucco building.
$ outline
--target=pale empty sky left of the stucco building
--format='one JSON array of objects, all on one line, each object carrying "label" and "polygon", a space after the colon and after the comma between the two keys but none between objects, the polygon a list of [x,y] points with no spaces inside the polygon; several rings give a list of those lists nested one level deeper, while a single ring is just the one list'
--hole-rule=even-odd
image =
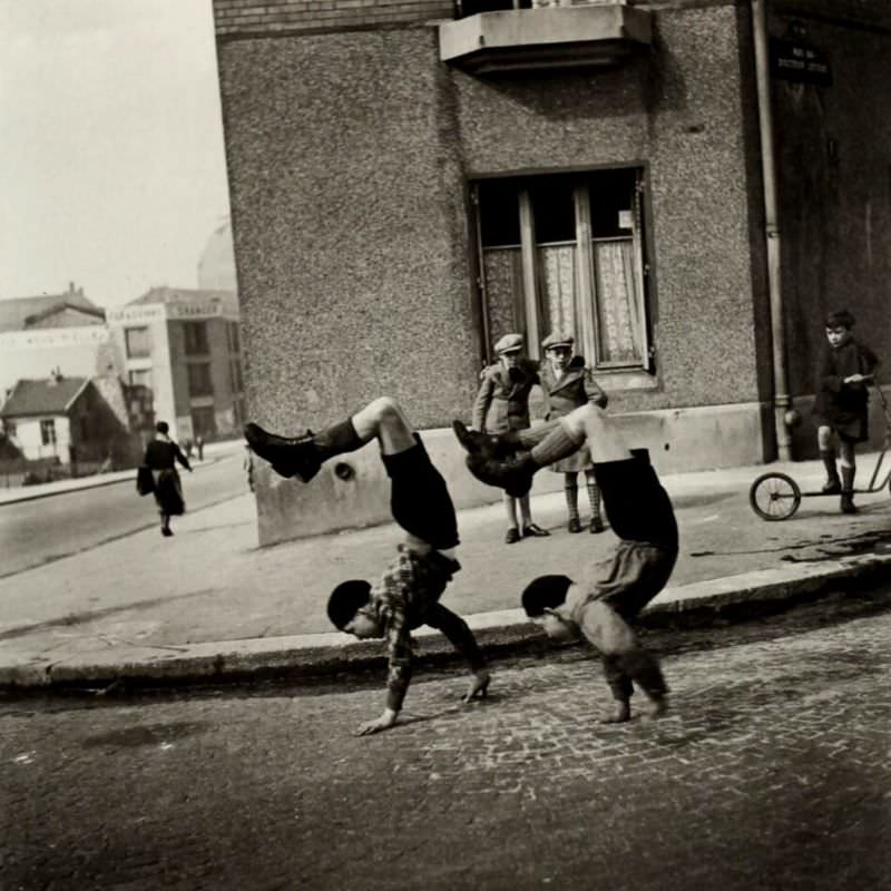
[{"label": "pale empty sky left of the stucco building", "polygon": [[197,287],[228,216],[210,0],[0,0],[0,300]]}]

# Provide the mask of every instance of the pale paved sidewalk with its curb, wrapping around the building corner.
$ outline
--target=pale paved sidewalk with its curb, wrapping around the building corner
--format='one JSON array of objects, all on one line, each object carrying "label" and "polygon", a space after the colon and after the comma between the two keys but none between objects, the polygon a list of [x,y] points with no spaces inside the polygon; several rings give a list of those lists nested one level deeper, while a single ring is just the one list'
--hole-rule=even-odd
[{"label": "pale paved sidewalk with its curb, wrapping around the building corner", "polygon": [[[864,481],[873,459],[862,456]],[[752,481],[783,471],[804,491],[819,488],[819,462],[664,477],[681,526],[672,586],[649,621],[701,623],[741,604],[776,601],[891,579],[887,491],[805,498],[797,513],[765,522],[748,505]],[[580,492],[582,519],[585,491]],[[540,631],[518,609],[526,581],[567,572],[604,555],[610,531],[569,535],[562,493],[536,496],[535,519],[550,538],[503,544],[502,507],[461,511],[462,570],[443,603],[468,618],[487,647],[518,646]],[[374,579],[400,532],[392,525],[258,548],[253,496],[179,519],[176,536],[156,529],[0,579],[0,685],[105,686],[133,682],[216,682],[264,674],[347,670],[381,659],[380,642],[331,631],[325,601],[344,578]],[[422,629],[419,649],[450,655]]]}]

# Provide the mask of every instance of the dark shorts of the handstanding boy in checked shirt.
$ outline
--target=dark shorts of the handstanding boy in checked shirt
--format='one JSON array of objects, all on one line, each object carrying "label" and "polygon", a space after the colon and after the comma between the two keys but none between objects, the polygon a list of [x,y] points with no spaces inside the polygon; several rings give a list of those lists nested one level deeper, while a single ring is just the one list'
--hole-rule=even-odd
[{"label": "dark shorts of the handstanding boy in checked shirt", "polygon": [[446,480],[430,461],[421,438],[399,454],[382,454],[391,480],[393,519],[410,535],[437,550],[458,545],[458,518]]}]

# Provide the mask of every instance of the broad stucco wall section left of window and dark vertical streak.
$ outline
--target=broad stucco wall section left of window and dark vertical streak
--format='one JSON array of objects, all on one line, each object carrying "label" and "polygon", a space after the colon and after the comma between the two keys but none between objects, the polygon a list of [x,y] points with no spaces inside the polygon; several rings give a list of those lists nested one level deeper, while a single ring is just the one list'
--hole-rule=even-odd
[{"label": "broad stucco wall section left of window and dark vertical streak", "polygon": [[464,187],[435,30],[221,47],[248,404],[283,425],[472,393]]}]

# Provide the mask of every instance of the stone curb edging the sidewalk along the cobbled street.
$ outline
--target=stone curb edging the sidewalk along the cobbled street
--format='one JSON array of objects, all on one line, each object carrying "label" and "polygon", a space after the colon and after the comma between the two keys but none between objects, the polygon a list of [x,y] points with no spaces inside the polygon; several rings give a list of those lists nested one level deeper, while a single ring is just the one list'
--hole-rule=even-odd
[{"label": "stone curb edging the sidewalk along the cobbled street", "polygon": [[[642,614],[642,625],[702,628],[733,610],[776,611],[852,587],[891,580],[891,555],[863,555],[831,561],[793,564],[779,569],[697,581],[667,588]],[[529,649],[544,644],[541,631],[521,609],[466,617],[482,647]],[[683,628],[681,628],[683,630]],[[422,662],[454,659],[441,634],[414,633]],[[309,678],[358,674],[383,665],[381,642],[355,640],[345,634],[311,634],[277,638],[222,640],[159,647],[106,648],[53,662],[19,657],[0,665],[0,689],[50,692],[108,688],[110,685],[175,686],[223,684],[272,677]]]}]

